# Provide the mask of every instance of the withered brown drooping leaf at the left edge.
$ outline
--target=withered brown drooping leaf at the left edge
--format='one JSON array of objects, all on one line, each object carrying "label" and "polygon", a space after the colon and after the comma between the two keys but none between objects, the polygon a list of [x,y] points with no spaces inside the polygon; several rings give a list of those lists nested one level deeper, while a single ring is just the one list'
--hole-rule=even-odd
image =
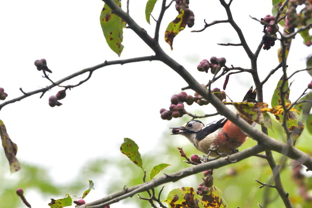
[{"label": "withered brown drooping leaf at the left edge", "polygon": [[0,136],[5,156],[7,157],[7,160],[10,164],[11,173],[19,171],[21,169],[21,164],[15,157],[17,153],[17,145],[10,139],[2,120],[0,120]]}]

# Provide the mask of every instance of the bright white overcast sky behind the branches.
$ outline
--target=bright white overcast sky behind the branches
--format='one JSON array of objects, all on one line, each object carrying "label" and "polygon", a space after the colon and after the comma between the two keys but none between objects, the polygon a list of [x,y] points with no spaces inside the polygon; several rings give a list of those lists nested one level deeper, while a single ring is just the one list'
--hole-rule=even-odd
[{"label": "bright white overcast sky behind the branches", "polygon": [[[125,0],[122,1],[123,8]],[[155,22],[145,21],[145,1],[130,0],[130,15],[151,36]],[[169,1],[168,1],[169,2]],[[211,56],[225,57],[227,65],[250,68],[248,57],[241,46],[217,46],[216,43],[239,43],[238,37],[228,23],[207,28],[201,33],[190,33],[203,27],[203,19],[226,19],[226,14],[219,1],[191,1],[190,9],[195,13],[195,25],[186,28],[173,41],[173,51],[164,41],[163,34],[168,23],[176,16],[174,3],[165,13],[160,28],[160,44],[164,51],[182,64],[203,84],[212,78],[212,74],[197,71],[196,66],[202,59]],[[53,71],[51,79],[59,80],[86,67],[100,64],[105,60],[133,58],[154,55],[153,51],[141,41],[133,31],[124,29],[124,51],[119,58],[110,50],[103,36],[99,17],[104,3],[97,1],[1,1],[0,2],[0,87],[7,92],[8,99],[22,95],[19,88],[32,91],[50,85],[41,77],[33,65],[34,60],[45,58]],[[156,3],[154,17],[158,17],[161,1]],[[252,51],[256,50],[261,37],[262,25],[251,20],[248,15],[261,18],[271,14],[271,1],[233,1],[233,17],[245,34]],[[260,79],[276,65],[278,41],[269,51],[261,50],[258,61]],[[293,40],[288,57],[288,71],[305,68],[305,57],[311,48],[302,45],[302,38]],[[279,70],[264,87],[265,102],[271,103],[271,96]],[[82,75],[65,84],[76,84],[83,80]],[[290,100],[295,100],[310,82],[311,77],[303,72],[293,77]],[[222,88],[224,78],[213,87]],[[232,75],[226,93],[233,100],[240,101],[253,81],[250,74]],[[17,157],[21,161],[49,167],[53,179],[58,182],[73,180],[77,172],[77,163],[97,157],[124,157],[119,146],[124,137],[135,140],[141,154],[155,148],[161,133],[177,120],[160,119],[159,109],[168,109],[171,95],[180,92],[186,82],[166,65],[153,61],[114,65],[96,70],[92,78],[71,91],[62,100],[61,107],[51,108],[48,97],[61,88],[53,88],[42,99],[40,94],[33,95],[20,102],[5,106],[0,119],[6,124],[13,142],[18,145]],[[187,91],[193,94],[191,91]],[[3,102],[3,101],[0,101]],[[187,106],[187,110],[199,109]],[[200,108],[206,113],[214,113],[211,106]],[[151,134],[151,129],[153,133]],[[158,133],[159,132],[159,133]],[[179,140],[188,145],[187,140]],[[161,148],[161,146],[157,146]],[[4,152],[0,152],[4,154]],[[61,166],[63,161],[72,161]],[[7,163],[6,176],[14,180],[19,173],[9,174]],[[78,165],[79,167],[79,165]],[[62,171],[60,171],[60,168]],[[26,193],[33,207],[46,205],[47,200],[38,200],[37,192]],[[100,189],[88,200],[103,196]],[[36,204],[37,203],[37,204]],[[24,207],[24,206],[22,206]],[[130,207],[130,205],[129,205]]]}]

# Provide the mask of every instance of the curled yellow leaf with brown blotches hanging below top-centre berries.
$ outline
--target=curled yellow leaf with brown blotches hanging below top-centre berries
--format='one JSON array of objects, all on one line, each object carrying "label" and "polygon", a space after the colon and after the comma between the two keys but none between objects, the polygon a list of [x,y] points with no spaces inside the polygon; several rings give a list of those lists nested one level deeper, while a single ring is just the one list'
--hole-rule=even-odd
[{"label": "curled yellow leaf with brown blotches hanging below top-centre berries", "polygon": [[180,31],[184,30],[187,22],[188,16],[185,14],[184,10],[181,9],[178,16],[169,23],[165,31],[165,41],[170,45],[171,51],[173,50],[173,38],[177,36]]}]

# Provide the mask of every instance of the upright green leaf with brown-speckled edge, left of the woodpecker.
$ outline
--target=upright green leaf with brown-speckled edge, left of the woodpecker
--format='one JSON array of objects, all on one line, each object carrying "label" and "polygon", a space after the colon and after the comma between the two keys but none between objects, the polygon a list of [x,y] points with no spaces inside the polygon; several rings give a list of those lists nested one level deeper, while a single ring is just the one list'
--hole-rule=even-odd
[{"label": "upright green leaf with brown-speckled edge, left of the woodpecker", "polygon": [[141,154],[139,153],[139,146],[129,138],[124,138],[124,143],[120,146],[120,151],[125,154],[137,166],[143,169]]}]

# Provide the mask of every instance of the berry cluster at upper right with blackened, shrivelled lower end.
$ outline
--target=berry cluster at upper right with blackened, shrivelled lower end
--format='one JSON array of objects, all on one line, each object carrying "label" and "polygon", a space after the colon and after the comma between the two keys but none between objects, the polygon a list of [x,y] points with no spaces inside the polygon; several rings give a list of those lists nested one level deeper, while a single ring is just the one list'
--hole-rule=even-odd
[{"label": "berry cluster at upper right with blackened, shrivelled lower end", "polygon": [[[276,36],[276,32],[279,30],[279,27],[277,24],[274,24],[275,23],[275,17],[274,16],[271,16],[271,15],[266,15],[266,17],[264,18],[261,18],[261,24],[262,25],[265,25],[264,28],[265,28],[265,33],[267,35],[271,35],[271,36],[263,36],[262,37],[262,40],[264,41],[263,43],[263,49],[264,50],[269,50],[272,46],[275,45],[275,41],[277,40],[277,36]],[[268,23],[268,25],[264,24],[265,23]]]}]

